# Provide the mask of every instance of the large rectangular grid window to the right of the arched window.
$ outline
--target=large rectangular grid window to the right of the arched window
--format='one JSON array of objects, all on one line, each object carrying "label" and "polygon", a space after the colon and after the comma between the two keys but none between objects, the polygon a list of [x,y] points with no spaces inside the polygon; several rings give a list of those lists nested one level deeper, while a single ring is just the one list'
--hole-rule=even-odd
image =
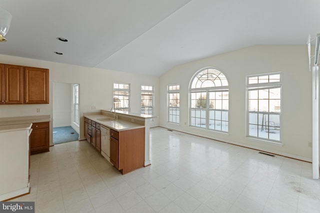
[{"label": "large rectangular grid window to the right of the arched window", "polygon": [[247,136],[280,143],[281,74],[246,79]]}]

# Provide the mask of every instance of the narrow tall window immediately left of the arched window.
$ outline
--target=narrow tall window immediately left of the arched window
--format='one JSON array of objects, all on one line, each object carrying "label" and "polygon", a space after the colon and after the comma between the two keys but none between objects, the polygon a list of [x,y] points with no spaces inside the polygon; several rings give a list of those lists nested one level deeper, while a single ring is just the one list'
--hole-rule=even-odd
[{"label": "narrow tall window immediately left of the arched window", "polygon": [[179,124],[180,123],[180,86],[179,84],[168,85],[168,122]]}]

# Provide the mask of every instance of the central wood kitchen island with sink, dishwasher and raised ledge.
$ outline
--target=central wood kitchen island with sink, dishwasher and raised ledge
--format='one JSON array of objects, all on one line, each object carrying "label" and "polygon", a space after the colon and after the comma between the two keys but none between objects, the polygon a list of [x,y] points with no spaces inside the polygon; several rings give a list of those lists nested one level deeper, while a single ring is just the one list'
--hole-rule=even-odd
[{"label": "central wood kitchen island with sink, dishwasher and raised ledge", "polygon": [[[150,165],[148,123],[152,116],[109,110],[83,115],[86,140],[98,150],[100,143],[101,155],[122,174]],[[98,141],[102,127],[109,129],[109,155],[102,150],[103,142]]]}]

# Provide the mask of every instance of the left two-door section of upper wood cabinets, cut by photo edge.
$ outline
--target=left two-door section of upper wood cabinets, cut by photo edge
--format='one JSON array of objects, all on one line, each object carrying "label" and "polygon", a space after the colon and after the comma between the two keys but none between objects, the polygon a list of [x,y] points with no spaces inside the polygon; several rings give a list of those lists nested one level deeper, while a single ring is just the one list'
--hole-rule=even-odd
[{"label": "left two-door section of upper wood cabinets, cut by photo edge", "polygon": [[23,103],[23,69],[22,66],[0,64],[0,103]]}]

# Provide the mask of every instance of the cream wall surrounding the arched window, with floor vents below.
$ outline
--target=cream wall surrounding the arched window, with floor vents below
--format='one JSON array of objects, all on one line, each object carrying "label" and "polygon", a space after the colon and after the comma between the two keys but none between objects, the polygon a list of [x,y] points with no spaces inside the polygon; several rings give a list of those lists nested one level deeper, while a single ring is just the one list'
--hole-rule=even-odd
[{"label": "cream wall surrounding the arched window, with floor vents below", "polygon": [[[188,127],[188,84],[203,67],[222,71],[229,83],[228,134]],[[246,138],[246,75],[282,72],[282,146]],[[306,45],[258,45],[176,66],[160,77],[162,127],[311,161],[311,73]],[[180,125],[166,122],[166,86],[180,84]]]}]

